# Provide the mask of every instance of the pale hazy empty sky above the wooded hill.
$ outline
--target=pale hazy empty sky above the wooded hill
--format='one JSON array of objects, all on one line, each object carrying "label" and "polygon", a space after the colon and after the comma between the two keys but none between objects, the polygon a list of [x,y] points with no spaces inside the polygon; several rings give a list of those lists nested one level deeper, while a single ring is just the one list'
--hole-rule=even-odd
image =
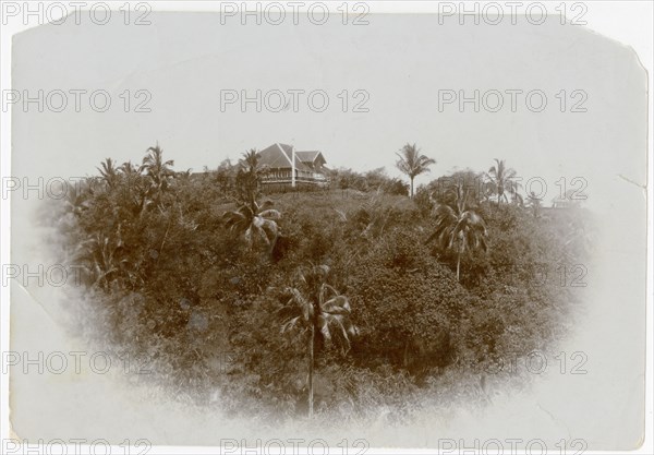
[{"label": "pale hazy empty sky above the wooded hill", "polygon": [[[84,176],[105,157],[140,160],[156,141],[178,169],[216,167],[249,148],[282,142],[323,151],[330,167],[384,166],[399,175],[395,153],[415,142],[438,161],[419,183],[455,167],[487,170],[495,157],[505,158],[523,181],[543,177],[547,201],[558,193],[560,177],[586,178],[586,192],[596,199],[603,189],[593,188],[592,171],[644,182],[644,154],[640,175],[619,156],[642,143],[645,124],[617,124],[615,119],[641,116],[645,73],[633,71],[638,63],[631,50],[579,26],[558,20],[540,26],[525,21],[460,26],[417,14],[372,15],[366,26],[340,21],[322,26],[251,21],[243,26],[238,20],[221,24],[218,13],[152,13],[148,19],[149,26],[68,21],[14,37],[15,89],[33,96],[39,88],[46,95],[53,89],[111,95],[106,112],[94,111],[88,95],[82,95],[81,112],[75,112],[72,94],[63,112],[37,112],[35,104],[28,112],[14,109],[14,176]],[[121,94],[128,89],[132,111],[125,113]],[[144,99],[135,97],[138,89],[152,93],[152,112],[133,112]],[[299,112],[256,112],[253,104],[242,112],[238,103],[221,112],[225,89],[245,89],[251,96],[256,89],[264,95],[323,89],[329,107],[314,112],[306,95],[300,95]],[[346,113],[339,98],[344,89]],[[368,112],[352,111],[362,99],[353,96],[356,89],[370,94]],[[474,112],[472,104],[460,112],[458,103],[439,111],[444,89],[467,96],[479,89],[482,97],[495,89],[505,104],[499,112],[485,111],[483,105]],[[507,89],[523,91],[516,112]],[[533,89],[547,96],[542,112],[526,106],[525,93]],[[566,112],[560,112],[561,89]],[[581,105],[586,112],[570,112],[582,97],[572,97],[574,89],[588,94]],[[495,105],[496,99],[487,101]],[[532,100],[540,104],[537,96]]]}]

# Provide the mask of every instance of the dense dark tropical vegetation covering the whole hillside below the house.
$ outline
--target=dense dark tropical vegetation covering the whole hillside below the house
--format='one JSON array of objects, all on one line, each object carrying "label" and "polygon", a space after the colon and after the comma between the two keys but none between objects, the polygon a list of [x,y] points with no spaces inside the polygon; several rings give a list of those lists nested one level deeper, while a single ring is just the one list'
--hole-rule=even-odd
[{"label": "dense dark tropical vegetation covering the whole hillside below the house", "polygon": [[[412,180],[423,158],[407,145],[398,167]],[[570,325],[578,288],[560,271],[586,261],[588,216],[525,203],[504,161],[412,199],[380,169],[265,194],[255,151],[196,175],[172,166],[158,146],[138,166],[107,159],[57,221],[85,267],[86,323],[198,402],[410,419]]]}]

